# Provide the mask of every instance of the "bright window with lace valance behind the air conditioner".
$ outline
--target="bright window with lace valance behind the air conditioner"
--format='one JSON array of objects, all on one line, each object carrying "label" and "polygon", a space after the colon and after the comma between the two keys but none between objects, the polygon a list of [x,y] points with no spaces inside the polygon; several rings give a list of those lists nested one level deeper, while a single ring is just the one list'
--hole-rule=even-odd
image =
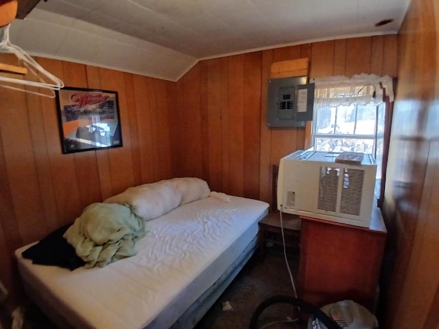
[{"label": "bright window with lace valance behind the air conditioner", "polygon": [[[352,79],[316,79],[311,143],[316,151],[372,154],[377,161],[377,195],[383,175],[386,103],[383,86],[390,77],[358,75]],[[392,95],[393,97],[393,95]]]}]

